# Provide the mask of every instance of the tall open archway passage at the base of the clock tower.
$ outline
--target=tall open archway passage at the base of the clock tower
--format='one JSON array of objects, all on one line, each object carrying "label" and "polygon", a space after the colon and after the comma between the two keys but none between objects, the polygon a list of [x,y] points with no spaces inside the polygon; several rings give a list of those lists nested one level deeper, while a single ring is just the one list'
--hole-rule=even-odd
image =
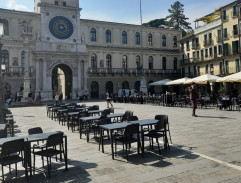
[{"label": "tall open archway passage at the base of the clock tower", "polygon": [[68,65],[56,65],[52,70],[53,97],[62,92],[64,99],[72,98],[72,78],[73,73]]}]

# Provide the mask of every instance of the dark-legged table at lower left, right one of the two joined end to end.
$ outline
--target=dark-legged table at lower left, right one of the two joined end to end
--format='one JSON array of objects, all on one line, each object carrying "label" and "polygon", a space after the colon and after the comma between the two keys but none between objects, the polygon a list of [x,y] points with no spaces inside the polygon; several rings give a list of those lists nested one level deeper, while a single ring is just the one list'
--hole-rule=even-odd
[{"label": "dark-legged table at lower left, right one of the two joined end to end", "polygon": [[[47,140],[50,135],[59,133],[60,131],[56,132],[48,132],[48,133],[39,133],[39,134],[33,134],[26,136],[27,139],[27,157],[28,157],[28,166],[30,171],[30,176],[32,176],[32,158],[31,158],[31,143],[32,142],[38,142]],[[67,136],[64,135],[64,148],[65,148],[65,154],[64,154],[64,161],[65,161],[65,170],[68,170],[68,149],[67,149]]]}]

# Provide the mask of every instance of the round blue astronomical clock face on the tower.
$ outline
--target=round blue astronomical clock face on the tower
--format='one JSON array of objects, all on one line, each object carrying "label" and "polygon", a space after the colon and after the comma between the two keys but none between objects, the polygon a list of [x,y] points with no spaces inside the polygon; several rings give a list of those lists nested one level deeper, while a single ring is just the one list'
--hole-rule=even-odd
[{"label": "round blue astronomical clock face on the tower", "polygon": [[50,20],[49,30],[58,39],[68,39],[73,34],[73,24],[66,17],[56,16]]}]

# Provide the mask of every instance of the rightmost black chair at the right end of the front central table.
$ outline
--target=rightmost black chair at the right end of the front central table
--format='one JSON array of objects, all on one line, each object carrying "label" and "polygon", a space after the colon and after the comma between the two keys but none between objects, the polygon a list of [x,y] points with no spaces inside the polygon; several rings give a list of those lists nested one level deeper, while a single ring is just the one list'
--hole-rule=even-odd
[{"label": "rightmost black chair at the right end of the front central table", "polygon": [[144,136],[149,137],[150,146],[153,148],[153,139],[156,139],[156,143],[158,145],[159,154],[161,154],[160,145],[159,145],[159,138],[163,138],[164,146],[168,147],[170,150],[169,142],[167,139],[167,123],[168,117],[167,115],[156,115],[155,119],[158,122],[155,124],[155,128],[149,130],[148,133],[144,134]]}]

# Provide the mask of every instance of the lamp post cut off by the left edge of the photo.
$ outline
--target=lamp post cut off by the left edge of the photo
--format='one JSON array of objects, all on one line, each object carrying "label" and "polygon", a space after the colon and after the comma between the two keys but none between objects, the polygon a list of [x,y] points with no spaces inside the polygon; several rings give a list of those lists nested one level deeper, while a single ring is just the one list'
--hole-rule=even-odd
[{"label": "lamp post cut off by the left edge of the photo", "polygon": [[[3,24],[0,23],[0,38],[3,36]],[[3,86],[3,73],[2,69],[4,69],[5,65],[2,64],[2,46],[3,44],[0,42],[0,123],[4,121],[4,116],[3,116],[3,106],[4,106],[4,86]]]}]

